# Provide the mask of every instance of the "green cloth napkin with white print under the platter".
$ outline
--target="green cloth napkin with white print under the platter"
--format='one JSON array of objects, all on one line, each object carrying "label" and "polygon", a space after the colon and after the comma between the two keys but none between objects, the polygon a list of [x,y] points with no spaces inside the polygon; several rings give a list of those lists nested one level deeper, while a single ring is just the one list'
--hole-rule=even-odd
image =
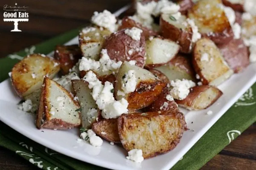
[{"label": "green cloth napkin with white print under the platter", "polygon": [[[0,82],[9,78],[8,72],[23,56],[29,53],[47,54],[55,45],[63,44],[78,35],[75,29],[64,35],[32,46],[7,58],[0,59]],[[255,94],[254,94],[255,93]],[[212,157],[218,154],[234,138],[246,130],[256,121],[256,84],[254,84],[211,128],[210,130],[183,156],[183,159],[172,167],[172,170],[198,170]],[[214,113],[213,113],[214,114]],[[101,170],[95,165],[56,153],[29,138],[12,130],[0,122],[0,146],[17,153],[37,167],[44,170]]]}]

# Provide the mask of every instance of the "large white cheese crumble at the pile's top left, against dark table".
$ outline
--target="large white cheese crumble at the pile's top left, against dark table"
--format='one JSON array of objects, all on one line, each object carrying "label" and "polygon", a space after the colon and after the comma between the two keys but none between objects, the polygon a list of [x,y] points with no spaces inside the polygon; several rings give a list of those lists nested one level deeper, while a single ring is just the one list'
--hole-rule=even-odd
[{"label": "large white cheese crumble at the pile's top left, against dark table", "polygon": [[104,10],[100,13],[94,12],[91,21],[97,26],[102,26],[106,29],[109,29],[111,32],[114,32],[116,30],[116,17],[108,10]]}]

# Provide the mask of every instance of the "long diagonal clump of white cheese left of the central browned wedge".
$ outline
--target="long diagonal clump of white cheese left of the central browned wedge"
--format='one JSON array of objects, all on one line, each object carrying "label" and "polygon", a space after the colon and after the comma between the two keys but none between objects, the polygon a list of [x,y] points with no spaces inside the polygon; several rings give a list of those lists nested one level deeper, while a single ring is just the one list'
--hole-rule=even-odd
[{"label": "long diagonal clump of white cheese left of the central browned wedge", "polygon": [[96,77],[96,75],[89,71],[83,78],[84,81],[89,83],[89,88],[93,89],[92,97],[96,101],[99,109],[102,110],[102,117],[117,118],[119,115],[128,112],[128,101],[122,98],[119,101],[115,101],[113,93],[113,84],[106,81],[104,86],[101,84],[101,81]]}]

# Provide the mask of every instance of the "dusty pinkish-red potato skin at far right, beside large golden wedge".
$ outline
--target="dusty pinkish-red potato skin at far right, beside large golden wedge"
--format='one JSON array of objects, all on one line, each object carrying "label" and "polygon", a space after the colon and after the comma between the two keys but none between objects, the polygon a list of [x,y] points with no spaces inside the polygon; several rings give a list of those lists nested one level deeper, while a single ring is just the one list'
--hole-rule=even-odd
[{"label": "dusty pinkish-red potato skin at far right, beside large golden wedge", "polygon": [[233,39],[227,44],[219,45],[218,48],[235,73],[241,72],[250,64],[249,50],[242,39]]}]

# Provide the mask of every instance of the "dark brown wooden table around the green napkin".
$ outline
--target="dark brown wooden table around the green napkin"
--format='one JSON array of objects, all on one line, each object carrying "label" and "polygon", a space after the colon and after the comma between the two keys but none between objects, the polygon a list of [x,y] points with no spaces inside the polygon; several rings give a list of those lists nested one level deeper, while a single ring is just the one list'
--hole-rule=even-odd
[{"label": "dark brown wooden table around the green napkin", "polygon": [[[1,5],[10,4],[1,0]],[[13,1],[14,2],[14,1]],[[116,11],[130,0],[17,0],[28,6],[29,22],[20,22],[22,32],[10,32],[12,22],[0,22],[0,58],[89,23],[94,11]],[[35,170],[34,165],[0,147],[0,170]],[[256,170],[256,124],[225,147],[201,170]]]}]

